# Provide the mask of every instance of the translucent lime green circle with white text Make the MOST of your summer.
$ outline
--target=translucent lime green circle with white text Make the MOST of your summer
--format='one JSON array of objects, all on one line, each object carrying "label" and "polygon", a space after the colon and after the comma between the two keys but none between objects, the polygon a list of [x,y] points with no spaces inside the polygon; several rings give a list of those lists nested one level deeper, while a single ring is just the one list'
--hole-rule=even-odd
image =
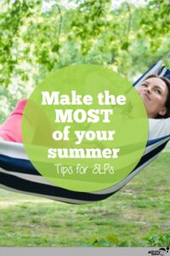
[{"label": "translucent lime green circle with white text Make the MOST of your summer", "polygon": [[78,65],[48,75],[33,91],[22,137],[32,165],[49,182],[97,191],[122,181],[148,138],[144,104],[118,73]]}]

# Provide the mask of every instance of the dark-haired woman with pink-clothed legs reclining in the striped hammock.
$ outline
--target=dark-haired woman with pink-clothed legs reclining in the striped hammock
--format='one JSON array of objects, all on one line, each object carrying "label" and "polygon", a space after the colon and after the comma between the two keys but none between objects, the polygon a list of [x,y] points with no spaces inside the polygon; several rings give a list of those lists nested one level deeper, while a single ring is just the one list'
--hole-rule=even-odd
[{"label": "dark-haired woman with pink-clothed legs reclining in the striped hammock", "polygon": [[[150,75],[137,88],[150,119],[170,117],[170,82],[156,74]],[[26,100],[19,102],[6,122],[0,127],[0,139],[22,143],[21,119]]]}]

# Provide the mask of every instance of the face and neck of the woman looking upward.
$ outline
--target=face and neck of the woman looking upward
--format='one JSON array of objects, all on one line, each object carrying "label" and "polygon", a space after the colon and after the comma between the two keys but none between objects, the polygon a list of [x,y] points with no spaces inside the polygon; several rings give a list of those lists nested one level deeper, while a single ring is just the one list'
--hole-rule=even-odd
[{"label": "face and neck of the woman looking upward", "polygon": [[149,118],[156,118],[167,113],[165,103],[167,101],[167,84],[159,78],[144,80],[137,88],[141,96]]}]

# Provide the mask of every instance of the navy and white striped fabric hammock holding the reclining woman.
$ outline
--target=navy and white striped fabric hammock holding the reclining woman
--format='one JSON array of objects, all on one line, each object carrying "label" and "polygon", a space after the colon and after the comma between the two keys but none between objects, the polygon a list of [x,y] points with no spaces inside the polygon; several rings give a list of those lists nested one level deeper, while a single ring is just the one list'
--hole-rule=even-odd
[{"label": "navy and white striped fabric hammock holding the reclining woman", "polygon": [[[170,53],[156,65],[152,66],[142,75],[133,86],[138,86],[151,73],[157,73],[170,79],[169,72]],[[63,189],[49,183],[37,172],[27,158],[24,146],[20,143],[0,142],[0,188],[11,191],[18,191],[29,195],[37,195],[63,201],[71,204],[87,204],[94,201],[104,200],[113,195],[128,183],[145,166],[165,148],[170,139],[170,118],[169,119],[149,119],[150,137],[147,142],[144,155],[139,160],[139,164],[121,182],[116,183],[108,189],[95,192],[77,192]]]}]

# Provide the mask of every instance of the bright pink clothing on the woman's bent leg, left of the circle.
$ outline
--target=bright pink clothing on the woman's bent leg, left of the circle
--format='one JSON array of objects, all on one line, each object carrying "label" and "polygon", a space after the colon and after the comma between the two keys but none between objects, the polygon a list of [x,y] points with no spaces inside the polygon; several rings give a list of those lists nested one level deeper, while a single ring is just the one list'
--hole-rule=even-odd
[{"label": "bright pink clothing on the woman's bent leg, left of the circle", "polygon": [[5,141],[22,143],[21,137],[21,122],[24,108],[27,100],[20,101],[13,113],[11,113],[8,119],[0,127],[0,137],[3,137]]}]

